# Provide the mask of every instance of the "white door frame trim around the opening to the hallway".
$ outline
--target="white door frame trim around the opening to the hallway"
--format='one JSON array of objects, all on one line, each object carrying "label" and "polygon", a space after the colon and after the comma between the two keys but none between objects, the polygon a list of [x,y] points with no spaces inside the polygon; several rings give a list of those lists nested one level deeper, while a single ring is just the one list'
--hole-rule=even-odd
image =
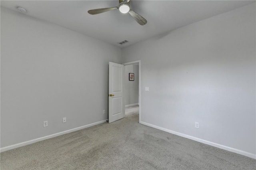
[{"label": "white door frame trim around the opening to the hallway", "polygon": [[[128,63],[123,63],[122,65],[130,65],[130,64],[135,64],[135,63],[139,63],[139,123],[141,122],[141,61],[137,60],[137,61],[131,61]],[[125,74],[125,71],[124,71]],[[125,77],[125,75],[124,75]],[[124,87],[125,90],[125,87]],[[124,93],[124,99],[125,99],[125,93]],[[124,102],[124,108],[125,108],[125,102]],[[124,109],[125,110],[125,109]],[[125,116],[125,111],[124,111],[124,116]]]}]

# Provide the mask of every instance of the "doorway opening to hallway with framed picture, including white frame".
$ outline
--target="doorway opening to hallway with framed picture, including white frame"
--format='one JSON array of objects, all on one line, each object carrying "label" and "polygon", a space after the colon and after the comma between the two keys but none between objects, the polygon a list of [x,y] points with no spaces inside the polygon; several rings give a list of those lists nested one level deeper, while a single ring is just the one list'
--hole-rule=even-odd
[{"label": "doorway opening to hallway with framed picture, including white frame", "polygon": [[138,115],[141,118],[140,60],[124,63],[124,117]]}]

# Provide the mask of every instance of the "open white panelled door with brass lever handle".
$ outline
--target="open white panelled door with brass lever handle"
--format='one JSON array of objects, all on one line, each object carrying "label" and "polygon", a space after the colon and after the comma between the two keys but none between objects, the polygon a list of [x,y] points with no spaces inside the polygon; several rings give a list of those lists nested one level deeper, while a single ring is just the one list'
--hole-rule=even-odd
[{"label": "open white panelled door with brass lever handle", "polygon": [[108,64],[108,123],[124,118],[124,65]]}]

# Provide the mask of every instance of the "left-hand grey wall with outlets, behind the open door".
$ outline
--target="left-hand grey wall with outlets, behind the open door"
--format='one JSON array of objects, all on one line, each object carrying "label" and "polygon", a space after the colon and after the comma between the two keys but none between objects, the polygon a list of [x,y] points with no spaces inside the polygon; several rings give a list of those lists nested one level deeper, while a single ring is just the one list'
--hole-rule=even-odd
[{"label": "left-hand grey wall with outlets, behind the open door", "polygon": [[120,55],[1,7],[1,147],[108,119],[108,61],[120,63]]}]

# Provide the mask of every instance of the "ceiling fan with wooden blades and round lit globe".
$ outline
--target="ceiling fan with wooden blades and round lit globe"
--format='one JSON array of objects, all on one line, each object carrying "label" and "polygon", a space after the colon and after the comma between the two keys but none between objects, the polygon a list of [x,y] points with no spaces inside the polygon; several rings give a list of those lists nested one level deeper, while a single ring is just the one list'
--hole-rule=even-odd
[{"label": "ceiling fan with wooden blades and round lit globe", "polygon": [[119,9],[119,11],[123,14],[129,12],[129,14],[134,18],[134,20],[136,20],[142,26],[147,24],[147,20],[145,18],[143,18],[142,16],[140,16],[139,14],[130,9],[130,0],[119,0],[119,4],[116,7],[88,10],[88,13],[91,15],[95,15],[115,9]]}]

